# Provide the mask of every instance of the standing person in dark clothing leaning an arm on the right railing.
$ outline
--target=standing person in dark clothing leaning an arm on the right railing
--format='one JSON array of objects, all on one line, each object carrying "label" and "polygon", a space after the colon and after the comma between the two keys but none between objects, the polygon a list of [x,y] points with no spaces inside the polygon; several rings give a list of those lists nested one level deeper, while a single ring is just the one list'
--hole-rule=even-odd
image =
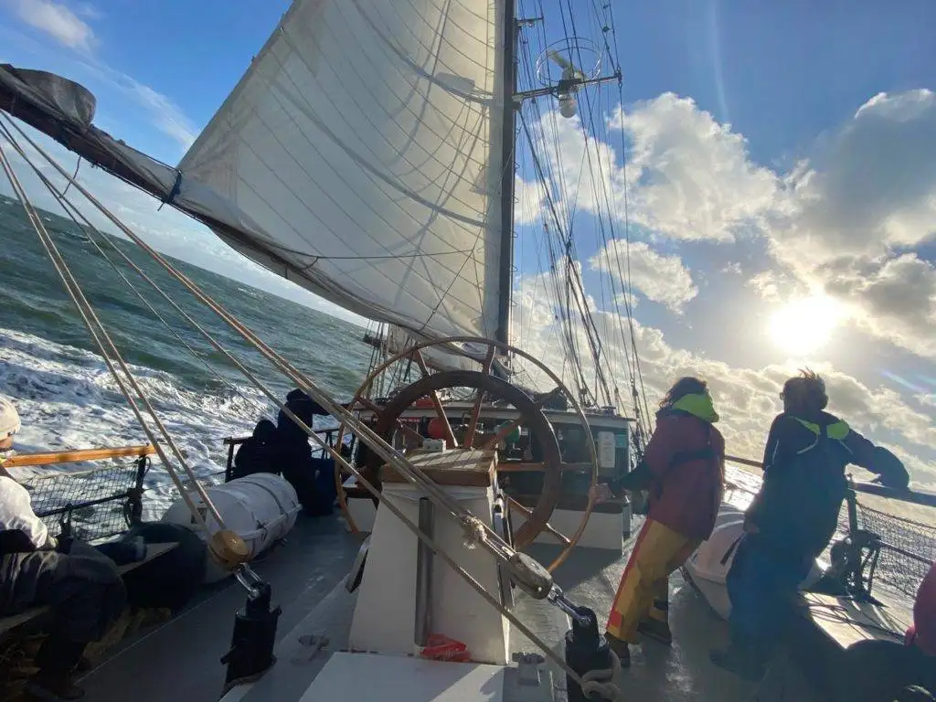
[{"label": "standing person in dark clothing leaning an arm on the right railing", "polygon": [[828,546],[854,463],[888,487],[906,488],[903,465],[839,417],[827,413],[826,384],[803,371],[783,385],[761,489],[745,514],[744,536],[727,576],[731,645],[711,660],[746,680],[760,680],[782,635],[800,582]]}]

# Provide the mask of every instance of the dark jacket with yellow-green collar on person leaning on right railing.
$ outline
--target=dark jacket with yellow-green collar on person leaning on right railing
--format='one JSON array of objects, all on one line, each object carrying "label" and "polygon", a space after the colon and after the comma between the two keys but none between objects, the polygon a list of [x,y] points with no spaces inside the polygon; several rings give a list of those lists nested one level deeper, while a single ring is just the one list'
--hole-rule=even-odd
[{"label": "dark jacket with yellow-green collar on person leaning on right railing", "polygon": [[764,482],[747,519],[772,548],[796,559],[815,558],[835,534],[849,463],[881,475],[890,487],[907,486],[900,461],[839,417],[779,415],[770,426]]}]

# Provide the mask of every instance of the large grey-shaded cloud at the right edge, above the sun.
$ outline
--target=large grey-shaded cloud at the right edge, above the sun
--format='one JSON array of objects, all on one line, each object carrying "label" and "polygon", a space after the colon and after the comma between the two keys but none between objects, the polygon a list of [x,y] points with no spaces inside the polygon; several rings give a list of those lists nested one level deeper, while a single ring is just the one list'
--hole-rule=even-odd
[{"label": "large grey-shaded cloud at the right edge, above the sun", "polygon": [[796,280],[856,305],[861,329],[936,356],[936,95],[872,97],[785,179],[772,254]]}]

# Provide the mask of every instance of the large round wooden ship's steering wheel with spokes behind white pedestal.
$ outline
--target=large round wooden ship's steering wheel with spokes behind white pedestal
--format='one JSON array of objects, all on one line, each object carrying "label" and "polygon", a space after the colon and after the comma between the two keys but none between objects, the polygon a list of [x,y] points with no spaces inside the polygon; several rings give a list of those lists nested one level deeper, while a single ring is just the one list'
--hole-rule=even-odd
[{"label": "large round wooden ship's steering wheel with spokes behind white pedestal", "polygon": [[[461,344],[472,345],[470,355]],[[446,351],[471,359],[477,370],[431,373],[423,354],[423,350],[431,346],[445,346]],[[502,354],[509,352],[528,360],[538,371],[548,377],[554,388],[549,392],[536,393],[535,397],[531,397],[524,390],[492,374],[495,354],[498,351]],[[477,358],[483,358],[483,360],[479,361]],[[386,400],[372,399],[375,381],[397,363],[411,366],[415,364],[420,377],[409,385],[398,388]],[[447,395],[461,394],[461,397],[466,400],[461,405],[444,403],[440,397],[443,391],[446,391]],[[552,422],[544,412],[544,406],[548,402],[555,402],[562,398],[568,404],[563,417],[567,422],[570,418],[576,422],[578,431],[584,439],[584,446],[579,446],[579,455],[584,455],[585,461],[563,462],[560,441]],[[427,422],[414,421],[411,417],[407,417],[407,413],[414,414],[413,410],[421,410],[425,413],[425,410],[429,408],[434,410],[435,415],[428,422],[429,431],[426,431]],[[530,505],[530,500],[526,501],[527,505],[523,505],[506,494],[505,502],[508,505],[508,515],[511,514],[511,510],[517,510],[525,518],[522,526],[512,534],[514,548],[524,548],[533,543],[536,536],[543,532],[551,534],[563,546],[560,554],[549,564],[550,571],[565,561],[585,531],[594,506],[592,488],[598,475],[597,452],[588,419],[575,396],[565,387],[562,380],[540,360],[524,351],[509,344],[477,337],[452,337],[437,342],[417,344],[377,366],[358,388],[348,409],[358,413],[360,417],[367,417],[373,430],[381,438],[391,446],[402,446],[404,451],[417,449],[428,438],[444,438],[446,447],[450,450],[469,448],[497,450],[499,455],[497,474],[501,485],[509,482],[511,475],[541,474],[541,481],[535,481],[539,486],[539,494],[535,498],[534,505]],[[453,427],[449,417],[460,411],[460,421]],[[498,421],[492,418],[496,415],[513,418],[509,421]],[[525,431],[529,439],[527,446],[521,449],[522,457],[519,460],[516,456],[513,459],[505,458],[503,454],[505,454],[506,441],[508,438],[516,439],[522,431]],[[344,446],[345,434],[349,432],[350,430],[342,424],[338,431],[337,446]],[[436,436],[430,437],[426,435],[427,433]],[[392,468],[383,466],[383,461],[372,452],[365,450],[364,453],[366,458],[363,461],[358,460],[358,470],[380,489],[381,472],[392,470]],[[359,457],[360,453],[358,453],[358,459]],[[577,472],[580,477],[587,479],[588,498],[575,533],[565,535],[549,524],[549,518],[563,494],[563,475],[570,471]],[[339,503],[349,528],[357,533],[358,526],[347,505],[348,496],[344,489],[346,477],[340,466],[336,465],[335,481]]]}]

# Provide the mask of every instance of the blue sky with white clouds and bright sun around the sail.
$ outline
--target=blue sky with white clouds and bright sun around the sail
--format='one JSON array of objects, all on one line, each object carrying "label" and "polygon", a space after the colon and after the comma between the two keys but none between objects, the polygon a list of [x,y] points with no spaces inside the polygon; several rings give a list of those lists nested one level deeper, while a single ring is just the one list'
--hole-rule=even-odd
[{"label": "blue sky with white clouds and bright sun around the sail", "polygon": [[[537,0],[519,4],[539,14]],[[97,96],[96,124],[176,163],[287,5],[0,0],[0,61],[79,80]],[[628,144],[632,283],[651,394],[679,373],[705,374],[729,442],[756,455],[779,409],[779,384],[809,362],[826,373],[833,410],[936,485],[936,43],[928,31],[936,5],[611,5],[624,112],[591,136],[614,151],[615,183],[623,183],[613,180],[622,175],[622,132]],[[559,2],[542,6],[548,37],[558,38]],[[577,22],[587,34],[591,11]],[[602,91],[610,120],[617,86]],[[576,162],[581,124],[543,128],[563,129],[556,157]],[[152,200],[88,178],[168,253],[335,312],[182,215],[156,216]],[[562,195],[578,203],[578,260],[600,300],[603,277],[590,264],[602,255],[595,208],[587,193]],[[523,294],[544,274],[531,253],[536,205],[533,196],[523,204],[530,216],[519,228],[517,311],[528,319],[549,313]],[[822,300],[836,307],[817,321]],[[801,323],[784,327],[790,310]],[[805,350],[790,339],[826,333],[826,344]],[[547,324],[522,341],[548,344],[550,334]]]}]

